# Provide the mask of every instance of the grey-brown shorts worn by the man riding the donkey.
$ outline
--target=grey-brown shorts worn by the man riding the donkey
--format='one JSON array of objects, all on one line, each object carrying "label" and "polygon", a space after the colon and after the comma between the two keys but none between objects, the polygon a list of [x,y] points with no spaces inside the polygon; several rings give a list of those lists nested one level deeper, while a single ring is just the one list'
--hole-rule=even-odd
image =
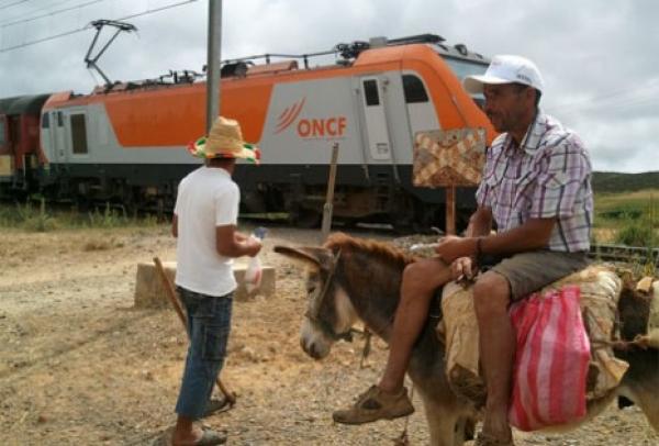
[{"label": "grey-brown shorts worn by the man riding the donkey", "polygon": [[[492,264],[492,260],[490,260]],[[505,277],[511,286],[511,300],[518,300],[543,287],[579,271],[589,265],[588,253],[561,253],[539,249],[515,254],[491,267]]]}]

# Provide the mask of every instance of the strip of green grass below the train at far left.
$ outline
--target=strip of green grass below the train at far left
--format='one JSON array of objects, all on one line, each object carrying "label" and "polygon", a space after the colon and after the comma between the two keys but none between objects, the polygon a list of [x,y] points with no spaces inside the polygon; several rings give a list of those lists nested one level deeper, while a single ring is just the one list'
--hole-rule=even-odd
[{"label": "strip of green grass below the train at far left", "polygon": [[110,203],[105,203],[102,209],[96,208],[88,212],[80,212],[76,208],[55,210],[40,198],[25,203],[0,204],[0,227],[19,228],[26,232],[144,227],[157,224],[157,218],[154,215],[129,216],[125,210],[113,208]]}]

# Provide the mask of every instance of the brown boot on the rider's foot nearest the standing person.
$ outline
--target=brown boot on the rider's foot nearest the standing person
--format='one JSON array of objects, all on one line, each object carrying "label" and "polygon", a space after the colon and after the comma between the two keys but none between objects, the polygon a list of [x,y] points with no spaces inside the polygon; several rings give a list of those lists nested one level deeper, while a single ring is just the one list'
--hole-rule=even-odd
[{"label": "brown boot on the rider's foot nearest the standing person", "polygon": [[357,402],[349,409],[336,411],[332,417],[337,423],[362,424],[378,420],[393,420],[414,412],[414,406],[407,398],[407,389],[399,394],[389,394],[372,386],[359,395]]}]

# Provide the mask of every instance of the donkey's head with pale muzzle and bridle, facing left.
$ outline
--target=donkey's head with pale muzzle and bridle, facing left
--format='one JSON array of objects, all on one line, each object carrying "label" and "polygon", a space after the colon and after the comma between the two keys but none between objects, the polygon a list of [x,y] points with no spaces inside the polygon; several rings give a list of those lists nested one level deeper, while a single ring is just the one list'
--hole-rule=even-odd
[{"label": "donkey's head with pale muzzle and bridle, facing left", "polygon": [[340,250],[323,247],[275,246],[275,252],[304,264],[306,312],[300,331],[302,349],[314,359],[330,354],[332,345],[349,338],[357,314],[340,285]]}]

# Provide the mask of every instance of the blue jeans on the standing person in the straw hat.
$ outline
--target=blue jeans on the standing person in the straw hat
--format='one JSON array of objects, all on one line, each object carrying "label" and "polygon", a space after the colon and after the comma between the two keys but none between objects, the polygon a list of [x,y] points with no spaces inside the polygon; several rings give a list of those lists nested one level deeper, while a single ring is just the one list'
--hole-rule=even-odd
[{"label": "blue jeans on the standing person in the straw hat", "polygon": [[176,413],[192,420],[203,416],[217,373],[224,364],[231,332],[233,293],[213,297],[177,287],[188,313],[190,345]]}]

